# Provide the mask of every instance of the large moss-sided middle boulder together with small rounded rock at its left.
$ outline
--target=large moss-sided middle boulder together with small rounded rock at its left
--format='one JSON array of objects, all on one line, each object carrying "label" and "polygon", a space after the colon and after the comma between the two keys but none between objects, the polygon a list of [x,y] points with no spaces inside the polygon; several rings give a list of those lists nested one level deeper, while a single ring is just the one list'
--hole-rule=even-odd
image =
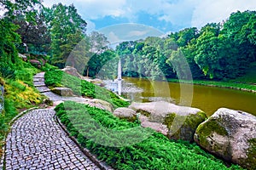
[{"label": "large moss-sided middle boulder together with small rounded rock at its left", "polygon": [[[130,110],[116,110],[114,115],[131,119],[134,111],[143,127],[151,127],[163,133],[169,139],[194,140],[196,127],[204,122],[206,114],[196,108],[173,105],[158,101],[150,103],[132,103]],[[123,111],[122,113],[119,113]],[[134,115],[134,112],[133,115]]]}]

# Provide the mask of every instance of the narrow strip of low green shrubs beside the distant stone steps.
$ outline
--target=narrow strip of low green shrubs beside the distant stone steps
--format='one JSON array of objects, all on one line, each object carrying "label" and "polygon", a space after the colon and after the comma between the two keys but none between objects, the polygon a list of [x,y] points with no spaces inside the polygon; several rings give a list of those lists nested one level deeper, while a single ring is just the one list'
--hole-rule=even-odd
[{"label": "narrow strip of low green shrubs beside the distant stone steps", "polygon": [[114,108],[129,105],[128,102],[119,99],[116,94],[113,94],[113,92],[108,91],[106,88],[101,88],[91,82],[73,77],[60,70],[46,71],[44,78],[45,84],[50,88],[71,88],[76,95],[108,101]]}]

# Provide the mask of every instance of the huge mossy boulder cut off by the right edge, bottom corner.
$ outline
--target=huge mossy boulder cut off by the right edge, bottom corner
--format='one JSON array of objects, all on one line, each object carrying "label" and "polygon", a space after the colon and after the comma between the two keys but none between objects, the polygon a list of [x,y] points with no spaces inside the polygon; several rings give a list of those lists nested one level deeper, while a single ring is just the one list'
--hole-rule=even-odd
[{"label": "huge mossy boulder cut off by the right edge, bottom corner", "polygon": [[218,109],[196,129],[195,142],[226,161],[256,169],[256,116]]}]

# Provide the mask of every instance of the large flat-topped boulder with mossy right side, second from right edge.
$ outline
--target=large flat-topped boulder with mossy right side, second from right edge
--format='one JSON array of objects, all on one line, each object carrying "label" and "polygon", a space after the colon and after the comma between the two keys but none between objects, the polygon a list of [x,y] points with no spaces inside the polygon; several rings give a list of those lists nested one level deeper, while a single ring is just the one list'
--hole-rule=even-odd
[{"label": "large flat-topped boulder with mossy right side, second from right edge", "polygon": [[200,109],[174,105],[165,101],[132,103],[130,109],[168,128],[169,139],[194,141],[196,128],[207,118]]}]

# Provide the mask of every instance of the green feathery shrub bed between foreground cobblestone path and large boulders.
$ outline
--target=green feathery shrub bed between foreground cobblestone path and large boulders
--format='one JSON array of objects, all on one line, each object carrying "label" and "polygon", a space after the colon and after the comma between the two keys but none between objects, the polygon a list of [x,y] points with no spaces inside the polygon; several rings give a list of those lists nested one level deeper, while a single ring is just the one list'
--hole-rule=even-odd
[{"label": "green feathery shrub bed between foreground cobblestone path and large boulders", "polygon": [[[83,147],[114,169],[241,169],[235,165],[226,167],[224,161],[201,150],[196,144],[170,141],[160,133],[140,127],[138,122],[125,122],[108,111],[72,101],[57,105],[55,111],[68,132]],[[135,127],[139,128],[128,130]],[[119,133],[109,134],[109,131]],[[151,135],[147,136],[148,133]],[[145,139],[126,146],[119,145],[129,143],[127,136]]]}]

